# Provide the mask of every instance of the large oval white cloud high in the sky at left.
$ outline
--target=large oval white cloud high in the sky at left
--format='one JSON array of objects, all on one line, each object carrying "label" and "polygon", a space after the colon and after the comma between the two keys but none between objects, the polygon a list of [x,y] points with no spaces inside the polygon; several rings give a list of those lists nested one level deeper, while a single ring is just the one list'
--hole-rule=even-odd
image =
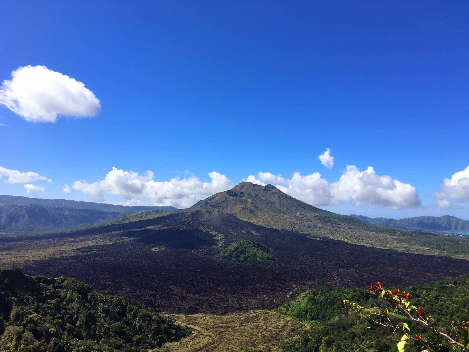
[{"label": "large oval white cloud high in the sky at left", "polygon": [[56,122],[58,115],[87,117],[101,103],[82,82],[45,66],[19,67],[0,87],[0,104],[32,122]]}]

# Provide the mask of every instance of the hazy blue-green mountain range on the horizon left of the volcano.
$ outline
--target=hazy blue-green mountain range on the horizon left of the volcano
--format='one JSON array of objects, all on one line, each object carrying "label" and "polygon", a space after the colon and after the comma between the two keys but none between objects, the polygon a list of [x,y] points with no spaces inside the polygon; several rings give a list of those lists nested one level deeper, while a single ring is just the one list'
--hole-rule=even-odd
[{"label": "hazy blue-green mountain range on the horizon left of the volcano", "polygon": [[168,211],[174,207],[125,207],[68,199],[39,199],[0,195],[0,230],[37,231],[106,222],[143,210]]}]

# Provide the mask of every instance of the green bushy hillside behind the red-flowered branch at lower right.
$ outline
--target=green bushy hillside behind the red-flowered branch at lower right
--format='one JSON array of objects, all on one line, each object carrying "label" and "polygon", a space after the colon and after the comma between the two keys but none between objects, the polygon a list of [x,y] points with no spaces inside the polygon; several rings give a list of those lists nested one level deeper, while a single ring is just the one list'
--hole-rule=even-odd
[{"label": "green bushy hillside behind the red-flowered branch at lower right", "polygon": [[[405,289],[412,294],[411,302],[424,306],[435,316],[435,326],[443,328],[448,319],[461,321],[469,317],[469,275]],[[396,343],[402,333],[371,324],[356,314],[340,309],[339,301],[350,299],[362,306],[371,307],[375,298],[362,289],[327,290],[317,288],[307,291],[275,309],[298,321],[309,323],[309,329],[282,346],[285,352],[397,352]],[[418,331],[415,330],[416,334]],[[408,344],[408,352],[420,351]]]}]

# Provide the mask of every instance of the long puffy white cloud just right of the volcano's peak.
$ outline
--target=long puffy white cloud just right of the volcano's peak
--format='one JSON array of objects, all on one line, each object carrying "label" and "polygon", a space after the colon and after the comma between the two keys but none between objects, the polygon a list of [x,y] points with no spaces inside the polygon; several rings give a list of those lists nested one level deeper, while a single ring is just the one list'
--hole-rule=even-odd
[{"label": "long puffy white cloud just right of the volcano's peak", "polygon": [[372,167],[360,171],[356,166],[348,165],[340,179],[333,183],[327,182],[318,172],[306,176],[295,172],[291,179],[259,172],[246,181],[274,184],[290,196],[314,206],[349,203],[358,207],[406,209],[421,205],[415,187],[391,176],[378,176]]}]

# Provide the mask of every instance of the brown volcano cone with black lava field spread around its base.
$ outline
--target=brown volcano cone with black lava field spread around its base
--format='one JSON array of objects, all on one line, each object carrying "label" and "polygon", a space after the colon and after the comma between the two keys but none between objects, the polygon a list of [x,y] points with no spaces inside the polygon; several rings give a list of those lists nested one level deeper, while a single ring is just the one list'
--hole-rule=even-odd
[{"label": "brown volcano cone with black lava field spread around its base", "polygon": [[[99,291],[135,298],[168,313],[273,308],[317,284],[363,286],[382,281],[408,285],[469,272],[468,260],[324,237],[338,233],[374,243],[390,238],[383,245],[392,247],[401,238],[394,231],[312,207],[272,185],[242,183],[189,209],[47,238],[72,240],[99,234],[120,240],[76,247],[67,255],[44,260],[30,258],[23,264],[27,273],[68,275]],[[223,248],[241,239],[272,248],[269,253],[274,260],[230,260],[221,255]],[[42,240],[28,241],[38,248]],[[14,252],[21,248],[21,241],[0,240],[0,246]],[[27,257],[24,246],[23,254]]]}]

